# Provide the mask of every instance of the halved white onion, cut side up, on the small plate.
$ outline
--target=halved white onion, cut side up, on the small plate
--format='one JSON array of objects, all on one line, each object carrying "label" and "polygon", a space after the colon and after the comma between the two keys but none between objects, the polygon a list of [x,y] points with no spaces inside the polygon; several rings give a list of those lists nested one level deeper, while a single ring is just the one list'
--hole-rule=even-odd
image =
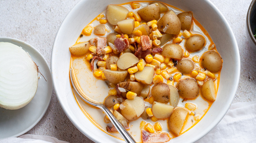
[{"label": "halved white onion, cut side up, on the small plate", "polygon": [[38,68],[21,47],[0,42],[0,107],[19,109],[34,97]]}]

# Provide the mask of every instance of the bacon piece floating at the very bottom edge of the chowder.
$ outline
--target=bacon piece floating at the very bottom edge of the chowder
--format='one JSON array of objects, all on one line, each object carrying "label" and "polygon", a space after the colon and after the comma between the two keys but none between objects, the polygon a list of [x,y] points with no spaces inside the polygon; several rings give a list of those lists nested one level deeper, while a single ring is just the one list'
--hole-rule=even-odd
[{"label": "bacon piece floating at the very bottom edge of the chowder", "polygon": [[164,143],[169,141],[171,138],[167,133],[148,133],[142,130],[142,141],[143,143]]}]

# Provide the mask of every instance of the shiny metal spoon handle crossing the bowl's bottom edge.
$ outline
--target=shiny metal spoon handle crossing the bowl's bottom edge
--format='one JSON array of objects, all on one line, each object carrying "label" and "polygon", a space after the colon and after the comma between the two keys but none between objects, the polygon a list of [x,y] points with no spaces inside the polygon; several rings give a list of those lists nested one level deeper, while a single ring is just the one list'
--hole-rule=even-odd
[{"label": "shiny metal spoon handle crossing the bowl's bottom edge", "polygon": [[123,125],[117,120],[117,118],[110,112],[110,110],[107,107],[100,105],[98,105],[97,107],[102,109],[103,112],[105,112],[105,114],[111,120],[113,125],[117,128],[117,131],[120,133],[120,135],[127,143],[136,143],[133,137],[128,133],[128,131],[123,127]]}]

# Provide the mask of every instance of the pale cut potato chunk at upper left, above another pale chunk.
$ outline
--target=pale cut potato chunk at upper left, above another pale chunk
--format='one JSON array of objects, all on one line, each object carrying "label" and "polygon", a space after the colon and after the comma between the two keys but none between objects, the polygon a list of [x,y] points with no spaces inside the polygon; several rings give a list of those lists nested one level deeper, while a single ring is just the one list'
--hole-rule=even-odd
[{"label": "pale cut potato chunk at upper left, above another pale chunk", "polygon": [[106,17],[110,24],[117,25],[117,22],[125,20],[127,18],[128,13],[129,10],[124,7],[117,5],[108,5]]}]

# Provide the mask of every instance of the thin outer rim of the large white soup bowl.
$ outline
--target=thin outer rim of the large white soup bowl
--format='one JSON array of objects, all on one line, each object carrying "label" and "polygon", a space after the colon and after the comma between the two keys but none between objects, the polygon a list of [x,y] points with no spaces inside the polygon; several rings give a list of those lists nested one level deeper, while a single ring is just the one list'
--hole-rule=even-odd
[{"label": "thin outer rim of the large white soup bowl", "polygon": [[[79,1],[73,8],[77,7],[77,5],[83,3],[84,1],[87,1],[87,0],[81,0]],[[255,0],[254,0],[255,1]],[[228,111],[231,103],[233,102],[234,98],[235,98],[235,95],[236,95],[236,92],[237,92],[237,89],[238,89],[238,85],[239,85],[239,79],[240,79],[240,70],[241,70],[241,65],[240,65],[240,54],[239,54],[239,48],[238,48],[238,44],[237,44],[237,40],[235,38],[235,35],[230,27],[230,25],[228,24],[226,18],[224,17],[224,15],[221,13],[221,11],[210,1],[210,0],[205,0],[205,3],[208,4],[210,7],[212,7],[214,9],[214,11],[217,13],[217,15],[223,20],[224,22],[224,25],[226,26],[227,28],[227,31],[230,33],[230,39],[232,40],[232,43],[234,44],[234,52],[236,53],[236,59],[237,59],[237,71],[235,72],[235,83],[234,83],[234,89],[232,90],[232,92],[230,93],[230,102],[227,102],[227,104],[224,106],[226,108],[226,110],[223,110],[222,112],[220,112],[220,114],[222,114],[221,116],[219,116],[219,118],[212,123],[211,126],[208,126],[205,128],[205,132],[202,133],[201,135],[195,137],[195,138],[191,138],[190,141],[191,142],[196,142],[198,141],[199,139],[201,139],[204,135],[208,134],[222,119],[223,117],[225,116],[226,112]],[[72,9],[73,9],[72,8]],[[72,11],[71,9],[71,11]],[[62,26],[64,25],[64,23],[67,21],[67,16],[69,16],[71,14],[71,11],[66,15],[66,17],[64,18],[63,22],[61,23],[58,31],[57,31],[57,34],[56,34],[56,37],[55,37],[55,40],[54,40],[54,43],[53,43],[53,49],[52,49],[52,56],[51,56],[51,70],[52,70],[52,76],[54,77],[54,73],[53,73],[53,53],[54,53],[54,49],[56,48],[55,44],[56,44],[56,41],[57,41],[57,37],[59,36],[59,33],[61,31],[61,29],[63,28]],[[58,93],[56,92],[56,89],[55,89],[55,80],[53,78],[53,85],[54,85],[54,91],[57,95],[57,98],[58,100],[60,101],[60,96],[58,96]],[[75,127],[84,135],[86,135],[88,138],[90,138],[91,140],[93,140],[94,142],[98,142],[97,139],[93,138],[92,136],[90,136],[87,132],[83,132],[82,129],[78,126],[78,124],[76,122],[73,121],[72,119],[72,116],[69,115],[66,111],[66,109],[64,108],[64,106],[62,105],[62,102],[59,102],[61,104],[61,107],[62,109],[64,110],[65,114],[67,115],[67,117],[72,121],[72,123],[75,125]]]}]

